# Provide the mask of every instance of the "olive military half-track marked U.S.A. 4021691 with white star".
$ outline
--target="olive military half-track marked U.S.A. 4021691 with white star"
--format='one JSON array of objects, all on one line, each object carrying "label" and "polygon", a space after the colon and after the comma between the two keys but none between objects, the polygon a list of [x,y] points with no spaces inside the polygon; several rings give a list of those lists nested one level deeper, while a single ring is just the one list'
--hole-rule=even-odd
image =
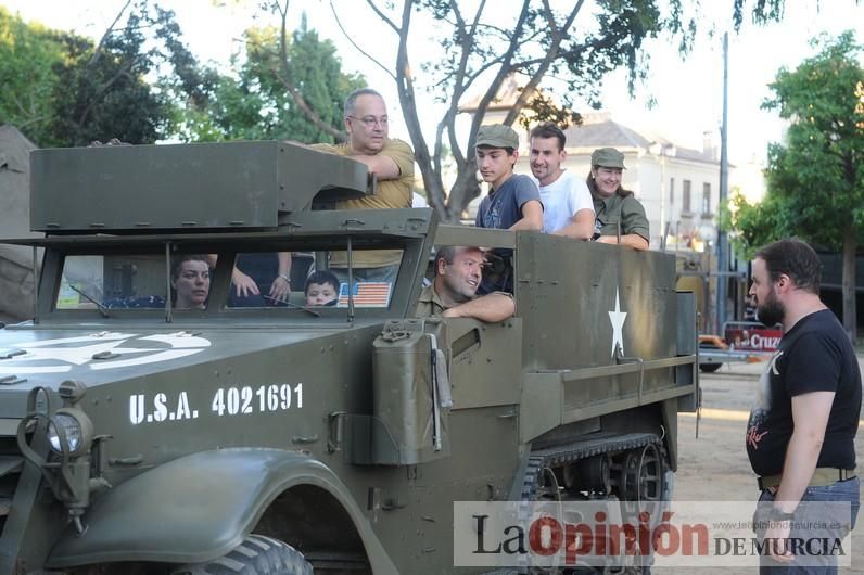
[{"label": "olive military half-track marked U.S.A. 4021691 with white star", "polygon": [[[661,500],[698,388],[670,255],[333,209],[280,142],[40,150],[33,321],[0,330],[0,573],[481,573],[454,501]],[[517,314],[417,318],[433,250],[512,251]],[[366,251],[393,282],[353,281]],[[335,305],[232,304],[244,254],[346,256]],[[203,305],[171,261],[215,261]],[[520,567],[517,567],[520,568]],[[245,570],[245,571],[242,571]]]}]

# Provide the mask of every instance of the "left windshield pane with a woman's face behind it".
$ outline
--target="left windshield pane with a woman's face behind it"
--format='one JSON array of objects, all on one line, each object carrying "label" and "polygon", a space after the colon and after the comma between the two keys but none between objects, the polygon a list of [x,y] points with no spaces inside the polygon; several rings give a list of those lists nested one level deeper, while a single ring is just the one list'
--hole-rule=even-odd
[{"label": "left windshield pane with a woman's face behind it", "polygon": [[67,256],[56,309],[205,309],[215,256],[178,253]]}]

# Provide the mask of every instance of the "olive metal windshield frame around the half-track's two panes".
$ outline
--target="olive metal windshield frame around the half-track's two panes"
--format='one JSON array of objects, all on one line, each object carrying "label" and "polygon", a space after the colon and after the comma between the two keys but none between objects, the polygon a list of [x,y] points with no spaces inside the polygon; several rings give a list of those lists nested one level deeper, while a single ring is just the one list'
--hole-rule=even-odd
[{"label": "olive metal windshield frame around the half-track's two panes", "polygon": [[[58,290],[62,281],[63,264],[66,256],[73,255],[124,255],[157,254],[168,245],[171,252],[217,254],[214,280],[211,284],[211,303],[204,310],[183,310],[178,317],[190,318],[231,318],[274,320],[274,308],[232,308],[223,305],[230,289],[230,272],[236,257],[244,252],[303,252],[312,250],[345,250],[348,239],[354,250],[391,248],[403,253],[398,276],[386,308],[358,308],[357,317],[405,317],[420,290],[417,278],[425,264],[425,254],[431,250],[437,220],[430,208],[406,208],[391,210],[320,210],[294,215],[292,221],[278,231],[237,231],[221,233],[174,233],[148,235],[52,235],[22,240],[0,240],[0,242],[45,247],[42,272],[40,274],[37,321],[80,321],[79,310],[64,310],[54,307]],[[416,285],[415,285],[416,284]],[[130,310],[112,309],[117,318],[128,316],[151,321],[164,316],[158,309]],[[346,310],[342,307],[318,309],[322,317],[338,317],[344,320]],[[303,309],[280,308],[278,317],[301,315],[308,319]]]}]

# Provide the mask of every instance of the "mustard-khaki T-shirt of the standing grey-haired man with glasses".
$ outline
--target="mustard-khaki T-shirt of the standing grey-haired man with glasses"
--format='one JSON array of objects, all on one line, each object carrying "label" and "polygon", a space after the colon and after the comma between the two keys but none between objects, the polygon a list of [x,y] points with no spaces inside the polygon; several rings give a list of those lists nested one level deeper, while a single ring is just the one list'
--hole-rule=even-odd
[{"label": "mustard-khaki T-shirt of the standing grey-haired man with glasses", "polygon": [[[330,152],[340,156],[350,156],[353,150],[347,144],[314,144],[315,150]],[[343,200],[336,202],[336,209],[389,209],[411,207],[414,192],[414,151],[402,140],[390,139],[379,154],[385,155],[396,163],[399,177],[395,180],[379,180],[378,191],[374,195]],[[372,250],[354,253],[353,266],[356,268],[380,268],[398,265],[402,253],[396,250]],[[334,268],[347,267],[345,252],[331,252],[330,266]]]}]

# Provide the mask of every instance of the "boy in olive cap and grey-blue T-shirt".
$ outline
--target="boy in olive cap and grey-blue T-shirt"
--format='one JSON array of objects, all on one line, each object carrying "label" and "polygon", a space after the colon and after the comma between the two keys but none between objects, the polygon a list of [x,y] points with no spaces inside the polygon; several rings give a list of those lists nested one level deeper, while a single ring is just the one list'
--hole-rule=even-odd
[{"label": "boy in olive cap and grey-blue T-shirt", "polygon": [[[519,135],[509,126],[481,126],[474,142],[477,167],[490,184],[490,193],[480,203],[475,225],[501,230],[543,230],[543,204],[534,181],[513,174],[519,157]],[[513,292],[511,250],[494,250],[490,270],[484,274],[481,294]]]}]

